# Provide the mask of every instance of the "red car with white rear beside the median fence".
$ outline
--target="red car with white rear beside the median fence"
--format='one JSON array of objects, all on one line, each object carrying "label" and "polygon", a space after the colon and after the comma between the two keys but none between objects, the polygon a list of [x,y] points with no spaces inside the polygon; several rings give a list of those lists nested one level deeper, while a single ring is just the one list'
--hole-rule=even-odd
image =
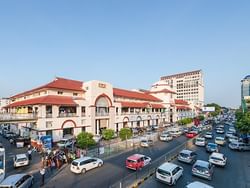
[{"label": "red car with white rear beside the median fence", "polygon": [[151,163],[151,158],[146,155],[134,154],[126,159],[126,167],[138,170]]}]

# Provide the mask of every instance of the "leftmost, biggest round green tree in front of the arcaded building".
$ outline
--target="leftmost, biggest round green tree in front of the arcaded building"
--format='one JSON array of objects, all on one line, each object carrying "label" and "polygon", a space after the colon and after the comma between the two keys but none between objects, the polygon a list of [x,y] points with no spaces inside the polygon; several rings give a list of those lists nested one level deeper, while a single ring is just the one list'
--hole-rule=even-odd
[{"label": "leftmost, biggest round green tree in front of the arcaded building", "polygon": [[87,149],[90,146],[96,145],[93,135],[87,132],[81,132],[76,137],[77,146],[81,149]]}]

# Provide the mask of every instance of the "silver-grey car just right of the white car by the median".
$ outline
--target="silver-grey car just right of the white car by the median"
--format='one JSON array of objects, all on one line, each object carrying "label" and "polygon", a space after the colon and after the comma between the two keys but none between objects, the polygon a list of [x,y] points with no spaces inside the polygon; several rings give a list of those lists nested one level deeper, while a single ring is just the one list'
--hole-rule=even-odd
[{"label": "silver-grey car just right of the white car by the median", "polygon": [[207,161],[197,160],[193,165],[192,175],[212,180],[213,165]]}]

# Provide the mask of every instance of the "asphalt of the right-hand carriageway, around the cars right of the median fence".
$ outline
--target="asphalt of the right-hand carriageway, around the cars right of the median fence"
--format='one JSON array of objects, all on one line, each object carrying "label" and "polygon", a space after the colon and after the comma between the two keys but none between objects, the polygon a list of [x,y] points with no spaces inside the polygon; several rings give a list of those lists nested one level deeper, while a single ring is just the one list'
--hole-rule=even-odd
[{"label": "asphalt of the right-hand carriageway, around the cars right of the median fence", "polygon": [[[209,154],[206,153],[204,147],[197,147],[193,145],[192,150],[197,152],[197,159],[205,161],[208,160]],[[212,181],[192,176],[192,165],[181,163],[175,160],[173,163],[184,168],[184,175],[177,181],[176,186],[162,184],[156,181],[155,177],[153,176],[142,186],[140,186],[140,188],[185,187],[188,182],[193,181],[200,181],[212,185],[215,188],[250,188],[250,152],[232,151],[228,148],[228,144],[226,144],[224,147],[220,147],[220,152],[225,154],[225,156],[228,158],[228,163],[225,168],[214,168],[214,176]]]}]

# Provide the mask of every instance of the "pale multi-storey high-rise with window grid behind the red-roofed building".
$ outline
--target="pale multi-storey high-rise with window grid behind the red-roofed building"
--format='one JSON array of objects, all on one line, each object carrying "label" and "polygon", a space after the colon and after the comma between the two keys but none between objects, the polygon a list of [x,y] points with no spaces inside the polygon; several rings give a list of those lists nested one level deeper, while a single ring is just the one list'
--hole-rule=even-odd
[{"label": "pale multi-storey high-rise with window grid behind the red-roofed building", "polygon": [[202,108],[204,106],[204,84],[201,70],[185,72],[161,77],[177,94],[176,98],[193,103]]}]

